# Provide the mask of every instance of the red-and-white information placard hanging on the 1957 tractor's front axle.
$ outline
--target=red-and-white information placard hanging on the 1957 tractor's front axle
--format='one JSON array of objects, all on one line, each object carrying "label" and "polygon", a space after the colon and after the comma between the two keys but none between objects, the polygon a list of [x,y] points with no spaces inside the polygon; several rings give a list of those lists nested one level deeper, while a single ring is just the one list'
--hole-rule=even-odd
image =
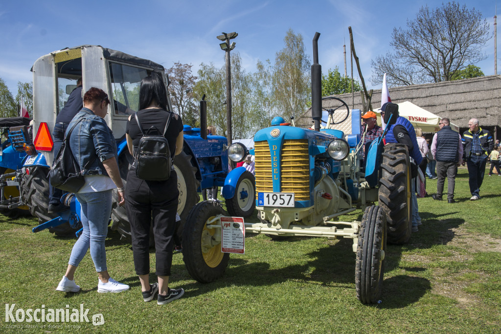
[{"label": "red-and-white information placard hanging on the 1957 tractor's front axle", "polygon": [[242,217],[221,217],[221,252],[245,253],[245,225]]}]

